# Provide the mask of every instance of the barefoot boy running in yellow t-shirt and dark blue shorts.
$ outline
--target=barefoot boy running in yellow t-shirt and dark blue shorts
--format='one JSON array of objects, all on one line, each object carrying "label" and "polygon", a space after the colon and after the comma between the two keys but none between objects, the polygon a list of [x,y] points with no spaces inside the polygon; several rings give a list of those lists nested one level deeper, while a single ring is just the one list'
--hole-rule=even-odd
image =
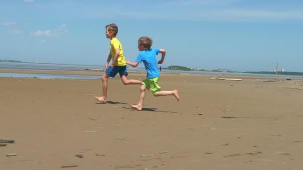
[{"label": "barefoot boy running in yellow t-shirt and dark blue shorts", "polygon": [[[108,55],[105,69],[106,72],[102,77],[103,95],[95,96],[98,101],[107,101],[107,86],[108,79],[114,78],[118,73],[124,85],[142,85],[139,80],[128,80],[126,70],[126,59],[123,54],[123,48],[121,42],[116,38],[118,33],[118,26],[114,23],[106,25],[106,38],[111,39],[110,41],[110,53]],[[113,59],[112,64],[109,66],[109,62]]]}]

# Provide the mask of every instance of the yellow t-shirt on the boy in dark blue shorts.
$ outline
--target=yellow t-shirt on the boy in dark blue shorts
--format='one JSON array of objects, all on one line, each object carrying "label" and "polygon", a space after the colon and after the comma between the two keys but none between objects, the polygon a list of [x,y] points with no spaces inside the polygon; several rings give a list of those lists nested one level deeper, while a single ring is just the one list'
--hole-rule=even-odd
[{"label": "yellow t-shirt on the boy in dark blue shorts", "polygon": [[115,66],[126,66],[126,59],[123,55],[123,49],[122,49],[122,44],[121,42],[115,37],[111,40],[110,42],[110,49],[111,49],[111,55],[112,59],[114,60],[115,54],[116,54],[116,49],[119,49],[120,54],[118,56],[117,61],[114,63]]}]

